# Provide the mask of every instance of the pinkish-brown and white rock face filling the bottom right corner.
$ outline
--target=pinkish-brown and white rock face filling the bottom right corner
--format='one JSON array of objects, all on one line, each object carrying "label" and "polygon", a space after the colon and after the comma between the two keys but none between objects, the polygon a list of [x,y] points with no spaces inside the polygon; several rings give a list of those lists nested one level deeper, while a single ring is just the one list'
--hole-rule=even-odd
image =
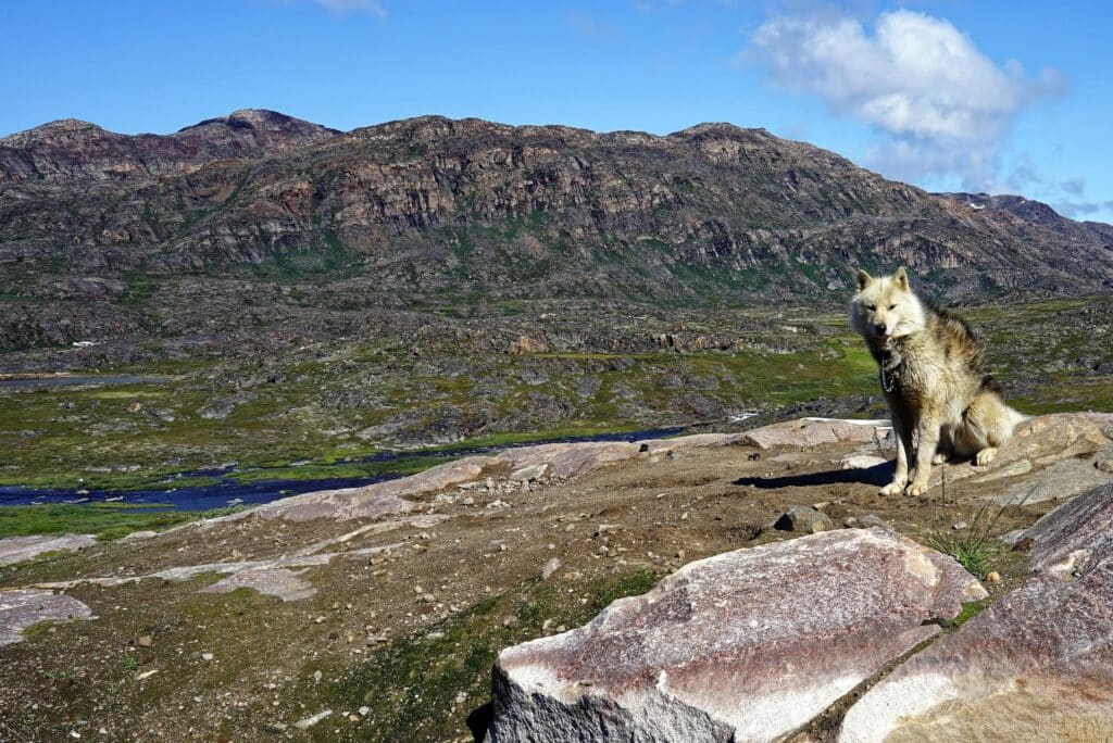
[{"label": "pinkish-brown and white rock face filling the bottom right corner", "polygon": [[1111,504],[1103,486],[1044,516],[1040,574],[871,688],[839,740],[1113,739]]}]

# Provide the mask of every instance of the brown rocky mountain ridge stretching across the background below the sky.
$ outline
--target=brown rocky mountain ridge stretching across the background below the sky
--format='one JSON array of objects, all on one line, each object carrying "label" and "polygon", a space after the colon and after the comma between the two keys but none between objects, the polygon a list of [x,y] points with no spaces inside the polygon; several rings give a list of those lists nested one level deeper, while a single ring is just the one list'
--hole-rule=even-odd
[{"label": "brown rocky mountain ridge stretching across the background below the sky", "polygon": [[718,123],[338,133],[240,111],[166,137],[66,121],[0,140],[0,266],[24,277],[278,267],[394,296],[759,303],[905,264],[953,299],[1113,286],[1107,231],[969,204]]}]

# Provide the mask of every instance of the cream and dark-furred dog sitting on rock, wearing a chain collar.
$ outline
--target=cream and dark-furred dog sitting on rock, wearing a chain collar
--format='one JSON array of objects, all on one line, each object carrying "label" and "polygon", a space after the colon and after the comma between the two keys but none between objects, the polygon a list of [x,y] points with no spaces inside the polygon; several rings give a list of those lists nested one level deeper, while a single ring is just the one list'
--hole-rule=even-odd
[{"label": "cream and dark-furred dog sitting on rock, wearing a chain collar", "polygon": [[926,493],[932,465],[951,457],[988,464],[1024,419],[1002,399],[969,326],[917,297],[904,268],[858,271],[850,327],[877,361],[893,414],[897,466],[883,495]]}]

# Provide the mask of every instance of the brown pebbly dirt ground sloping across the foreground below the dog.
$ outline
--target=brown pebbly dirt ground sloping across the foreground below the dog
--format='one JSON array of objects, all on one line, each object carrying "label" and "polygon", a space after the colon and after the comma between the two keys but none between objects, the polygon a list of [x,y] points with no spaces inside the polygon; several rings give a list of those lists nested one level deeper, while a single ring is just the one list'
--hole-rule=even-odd
[{"label": "brown pebbly dirt ground sloping across the foreground below the dog", "polygon": [[[325,548],[328,564],[298,568],[316,590],[301,601],[199,593],[220,577],[210,572],[76,585],[67,593],[97,618],[0,648],[0,740],[472,740],[500,647],[585,622],[693,559],[799,536],[771,527],[790,505],[816,504],[836,527],[873,514],[930,543],[967,529],[1011,482],[881,497],[892,463],[839,468],[856,448],[689,448],[529,488],[452,488]],[[993,532],[1053,505],[1006,509]],[[367,523],[188,527],[0,568],[0,587],[292,555]],[[991,601],[1027,575],[1003,544],[992,568]]]}]

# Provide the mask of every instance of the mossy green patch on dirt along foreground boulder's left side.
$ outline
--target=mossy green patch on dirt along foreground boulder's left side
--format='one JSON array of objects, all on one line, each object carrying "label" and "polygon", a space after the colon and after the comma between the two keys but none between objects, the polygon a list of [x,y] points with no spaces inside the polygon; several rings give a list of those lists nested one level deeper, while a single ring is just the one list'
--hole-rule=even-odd
[{"label": "mossy green patch on dirt along foreground boulder's left side", "polygon": [[[491,667],[501,648],[540,636],[545,620],[553,625],[582,625],[615,598],[644,593],[657,581],[649,569],[609,575],[575,585],[573,601],[568,583],[534,578],[516,591],[392,641],[316,692],[322,696],[319,704],[334,710],[371,707],[364,723],[351,733],[359,740],[460,735],[467,730],[469,713],[490,699]],[[581,604],[579,598],[588,601]],[[318,734],[318,740],[325,740],[321,735],[335,740],[332,731]]]}]

